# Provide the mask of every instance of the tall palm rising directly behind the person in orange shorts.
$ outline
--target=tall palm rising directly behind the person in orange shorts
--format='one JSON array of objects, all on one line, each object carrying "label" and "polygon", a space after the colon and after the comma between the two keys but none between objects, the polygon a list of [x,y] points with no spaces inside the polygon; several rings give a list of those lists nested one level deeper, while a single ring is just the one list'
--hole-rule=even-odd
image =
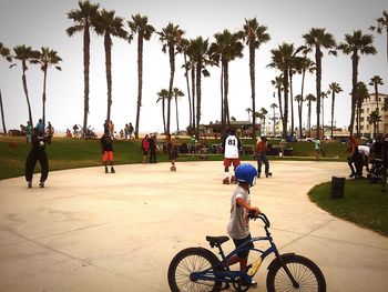
[{"label": "tall palm rising directly behind the person in orange shorts", "polygon": [[[99,36],[104,37],[104,50],[105,50],[105,74],[106,74],[106,88],[108,88],[108,107],[106,107],[106,120],[111,120],[111,107],[112,107],[112,37],[126,39],[126,31],[123,24],[124,19],[116,17],[115,11],[108,11],[103,9],[98,18],[95,32]],[[137,132],[137,130],[136,130]],[[137,137],[136,137],[137,138]]]}]

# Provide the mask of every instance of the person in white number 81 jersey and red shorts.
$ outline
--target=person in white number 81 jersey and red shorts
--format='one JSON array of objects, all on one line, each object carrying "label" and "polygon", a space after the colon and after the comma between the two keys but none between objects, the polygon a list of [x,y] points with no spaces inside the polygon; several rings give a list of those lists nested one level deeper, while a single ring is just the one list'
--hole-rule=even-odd
[{"label": "person in white number 81 jersey and red shorts", "polygon": [[[224,171],[225,178],[223,184],[235,183],[234,171],[239,165],[239,152],[242,151],[242,143],[235,135],[234,130],[227,130],[226,137],[221,143],[221,148],[224,151]],[[229,180],[229,167],[233,164],[232,178]]]}]

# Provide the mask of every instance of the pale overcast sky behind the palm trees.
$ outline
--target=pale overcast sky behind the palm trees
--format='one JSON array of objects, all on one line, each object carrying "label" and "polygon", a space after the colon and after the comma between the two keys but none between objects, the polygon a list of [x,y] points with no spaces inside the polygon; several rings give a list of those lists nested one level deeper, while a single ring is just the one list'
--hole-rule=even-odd
[{"label": "pale overcast sky behind the palm trees", "polygon": [[[293,42],[295,47],[304,44],[303,34],[314,28],[326,28],[334,34],[337,43],[344,41],[345,33],[361,29],[364,33],[375,36],[376,56],[364,56],[359,63],[359,80],[369,83],[372,75],[384,79],[380,92],[388,93],[388,62],[386,59],[386,36],[368,31],[376,24],[376,18],[388,10],[386,0],[100,0],[106,10],[115,10],[116,16],[126,20],[131,14],[149,17],[149,22],[157,31],[169,22],[178,24],[186,38],[202,36],[214,41],[214,33],[228,29],[235,32],[242,29],[244,19],[257,18],[268,28],[272,40],[256,51],[256,108],[266,108],[277,102],[273,98],[270,80],[278,72],[266,68],[270,62],[270,50],[282,42]],[[71,128],[83,121],[83,62],[82,34],[69,38],[65,33],[73,22],[67,13],[78,8],[75,0],[1,0],[0,1],[0,42],[7,48],[19,44],[31,46],[40,50],[49,47],[58,51],[63,59],[62,71],[49,70],[47,89],[47,121],[58,130]],[[161,51],[162,46],[156,34],[144,43],[143,68],[143,107],[141,110],[141,132],[162,131],[162,109],[156,103],[156,92],[169,87],[169,57]],[[313,56],[310,56],[314,59]],[[90,68],[90,115],[89,124],[98,131],[106,117],[106,80],[103,38],[92,34]],[[186,94],[184,72],[180,69],[183,58],[176,58],[174,85]],[[135,122],[137,73],[136,42],[113,39],[113,104],[112,120],[118,130],[125,123]],[[219,120],[219,69],[210,69],[211,77],[203,79],[202,123]],[[8,62],[0,61],[0,88],[3,99],[6,124],[9,129],[19,129],[28,120],[27,101],[21,82],[21,66],[9,69]],[[37,66],[30,66],[27,72],[29,95],[33,122],[42,114],[43,74]],[[338,82],[344,92],[338,94],[335,121],[337,127],[347,127],[350,117],[351,62],[348,56],[328,56],[323,61],[323,91],[328,84]],[[369,87],[369,91],[374,89]],[[300,92],[300,80],[295,78],[294,95]],[[305,94],[315,94],[315,75],[306,78]],[[188,124],[187,97],[180,102],[180,127]],[[244,58],[229,64],[229,107],[231,115],[237,120],[247,120],[247,108],[252,108],[248,72],[248,52]],[[330,120],[330,102],[325,101],[325,123]],[[304,109],[307,112],[306,108]],[[174,108],[173,111],[174,112]],[[295,117],[296,117],[295,105]],[[304,114],[306,115],[306,114]],[[313,117],[313,119],[315,119]],[[297,124],[297,120],[295,119]],[[304,123],[306,119],[304,118]],[[315,122],[314,122],[315,123]],[[0,127],[2,130],[2,127]],[[172,130],[176,129],[175,115],[172,115]]]}]

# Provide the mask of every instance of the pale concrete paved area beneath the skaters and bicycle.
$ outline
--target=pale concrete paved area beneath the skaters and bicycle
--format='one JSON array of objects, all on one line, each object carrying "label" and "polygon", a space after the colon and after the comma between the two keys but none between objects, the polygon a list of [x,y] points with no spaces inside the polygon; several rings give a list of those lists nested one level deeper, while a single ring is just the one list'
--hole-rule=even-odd
[{"label": "pale concrete paved area beneath the skaters and bicycle", "polygon": [[[313,259],[328,291],[387,291],[388,239],[337,220],[307,191],[345,163],[272,163],[274,177],[253,189],[282,253]],[[45,189],[23,178],[0,181],[0,291],[169,291],[171,259],[183,248],[223,235],[233,185],[221,162],[116,167],[51,172]],[[253,223],[253,234],[263,230]],[[233,243],[225,243],[231,250]],[[253,291],[266,291],[267,259]]]}]

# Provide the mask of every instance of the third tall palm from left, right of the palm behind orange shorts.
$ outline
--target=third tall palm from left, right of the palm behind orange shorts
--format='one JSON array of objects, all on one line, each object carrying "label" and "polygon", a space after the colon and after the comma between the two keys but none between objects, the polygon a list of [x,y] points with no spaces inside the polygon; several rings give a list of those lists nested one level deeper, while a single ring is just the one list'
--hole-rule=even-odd
[{"label": "third tall palm from left, right of the palm behind orange shorts", "polygon": [[143,43],[149,41],[155,31],[155,28],[149,23],[147,17],[141,14],[132,16],[132,21],[127,22],[132,33],[137,33],[137,111],[135,135],[139,138],[140,108],[142,107],[143,88]]}]

